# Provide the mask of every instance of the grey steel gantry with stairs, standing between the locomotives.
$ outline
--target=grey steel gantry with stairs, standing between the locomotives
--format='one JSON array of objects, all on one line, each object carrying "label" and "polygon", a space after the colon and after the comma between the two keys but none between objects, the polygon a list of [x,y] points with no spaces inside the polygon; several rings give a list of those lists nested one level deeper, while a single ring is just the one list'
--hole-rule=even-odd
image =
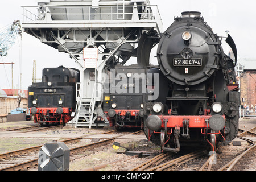
[{"label": "grey steel gantry with stairs, standing between the locomotives", "polygon": [[[40,0],[38,6],[23,6],[23,17],[24,32],[68,53],[80,67],[76,126],[108,124],[102,110],[104,73],[136,56],[143,32],[163,28],[158,7],[148,0]],[[97,65],[86,66],[86,48],[97,48]]]}]

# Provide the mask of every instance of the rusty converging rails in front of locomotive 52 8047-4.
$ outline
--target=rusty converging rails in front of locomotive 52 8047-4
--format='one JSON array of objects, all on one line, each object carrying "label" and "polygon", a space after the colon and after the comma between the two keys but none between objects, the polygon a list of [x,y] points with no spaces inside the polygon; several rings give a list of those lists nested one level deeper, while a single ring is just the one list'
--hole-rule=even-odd
[{"label": "rusty converging rails in front of locomotive 52 8047-4", "polygon": [[[255,151],[255,142],[253,140],[250,140],[248,138],[245,138],[245,136],[256,136],[255,133],[256,127],[250,130],[242,130],[242,133],[240,133],[237,137],[243,140],[246,140],[250,143],[250,146],[246,148],[245,151],[241,152],[240,155],[231,155],[227,159],[229,162],[226,162],[226,164],[222,165],[221,167],[217,167],[217,170],[219,171],[230,171],[233,169],[234,166],[245,156],[248,154],[248,152]],[[131,171],[163,171],[163,170],[175,170],[178,169],[182,164],[189,164],[187,162],[191,161],[191,165],[193,166],[193,169],[196,169],[198,171],[212,171],[216,170],[216,167],[213,168],[213,164],[216,164],[217,154],[213,152],[212,155],[210,155],[207,158],[207,154],[204,151],[197,151],[197,152],[191,152],[189,154],[183,155],[183,156],[176,156],[174,154],[159,154],[155,156],[152,159],[147,160],[146,162],[140,164],[139,166],[131,169]],[[175,158],[175,159],[172,159]],[[225,157],[226,158],[226,157]],[[193,160],[198,160],[199,162],[193,162]],[[167,160],[167,162],[166,162]],[[165,161],[163,163],[163,161]],[[205,161],[205,162],[204,162]],[[204,163],[203,163],[204,162]],[[197,166],[198,164],[198,166]],[[222,164],[222,163],[221,163]],[[181,168],[182,170],[182,168]]]}]

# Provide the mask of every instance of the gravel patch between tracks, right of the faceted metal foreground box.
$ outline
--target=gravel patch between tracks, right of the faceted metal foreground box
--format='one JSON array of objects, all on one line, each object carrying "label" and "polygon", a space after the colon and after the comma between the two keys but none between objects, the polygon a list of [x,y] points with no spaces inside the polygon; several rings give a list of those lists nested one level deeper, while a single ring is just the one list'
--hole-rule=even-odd
[{"label": "gravel patch between tracks, right of the faceted metal foreground box", "polygon": [[[119,142],[121,146],[129,148],[135,147],[134,151],[144,151],[144,154],[159,154],[159,146],[155,146],[153,143],[144,140],[130,140],[130,139],[116,139],[115,142]],[[112,145],[101,147],[102,151],[95,154],[74,156],[70,163],[70,171],[88,170],[92,167],[97,167],[102,164],[108,164],[106,167],[101,168],[100,171],[129,171],[138,166],[142,162],[145,162],[151,156],[139,158],[137,156],[126,155],[125,149],[120,147],[118,150],[114,150]]]}]

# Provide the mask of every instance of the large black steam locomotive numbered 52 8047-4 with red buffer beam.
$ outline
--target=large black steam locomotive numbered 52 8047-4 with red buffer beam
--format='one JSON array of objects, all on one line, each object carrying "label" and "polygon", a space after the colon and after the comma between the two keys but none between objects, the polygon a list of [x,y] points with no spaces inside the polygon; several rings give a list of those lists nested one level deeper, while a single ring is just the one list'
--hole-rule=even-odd
[{"label": "large black steam locomotive numbered 52 8047-4 with red buffer beam", "polygon": [[[237,50],[228,35],[234,60],[225,55],[221,38],[200,12],[183,12],[162,34],[144,33],[137,49],[138,64],[148,67],[151,48],[158,44],[159,96],[144,103],[144,132],[162,151],[182,146],[227,144],[238,133],[240,93],[234,67]],[[152,69],[154,70],[154,69]],[[163,79],[165,77],[168,79]],[[163,88],[160,85],[167,86]]]}]

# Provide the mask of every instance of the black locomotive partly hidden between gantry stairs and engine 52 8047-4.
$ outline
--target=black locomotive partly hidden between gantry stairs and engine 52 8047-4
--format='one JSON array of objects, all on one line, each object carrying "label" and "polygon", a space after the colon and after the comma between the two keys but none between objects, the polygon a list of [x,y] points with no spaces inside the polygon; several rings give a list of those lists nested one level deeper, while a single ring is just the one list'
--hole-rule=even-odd
[{"label": "black locomotive partly hidden between gantry stairs and engine 52 8047-4", "polygon": [[143,103],[146,102],[148,69],[138,65],[117,65],[105,83],[104,113],[109,125],[143,129]]}]

